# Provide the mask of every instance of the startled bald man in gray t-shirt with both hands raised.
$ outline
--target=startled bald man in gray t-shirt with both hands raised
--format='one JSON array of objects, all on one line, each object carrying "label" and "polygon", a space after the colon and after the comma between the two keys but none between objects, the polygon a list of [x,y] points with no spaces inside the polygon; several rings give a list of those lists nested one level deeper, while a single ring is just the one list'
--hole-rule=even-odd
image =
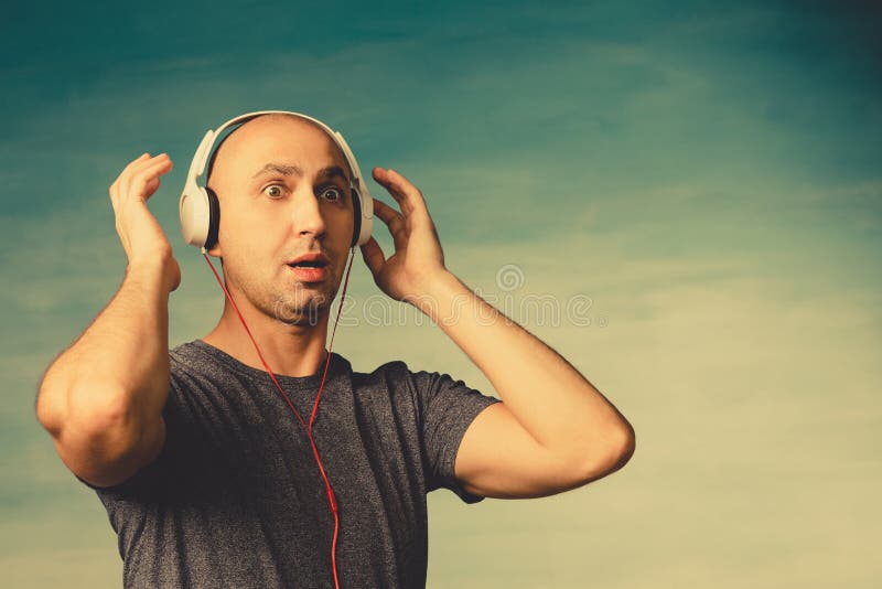
[{"label": "startled bald man in gray t-shirt with both hands raised", "polygon": [[[171,169],[146,153],[110,186],[126,277],[37,399],[60,457],[107,507],[126,587],[422,587],[427,492],[550,495],[633,453],[630,424],[585,378],[445,268],[422,193],[392,170],[373,175],[398,204],[374,201],[395,253],[372,237],[363,259],[502,400],[404,362],[353,372],[326,351],[353,236],[352,171],[293,116],[254,118],[216,150],[208,183],[222,214],[208,254],[229,298],[211,333],[170,352],[181,271],[147,200]],[[308,254],[323,269],[293,267]],[[290,409],[312,409],[314,427]]]}]

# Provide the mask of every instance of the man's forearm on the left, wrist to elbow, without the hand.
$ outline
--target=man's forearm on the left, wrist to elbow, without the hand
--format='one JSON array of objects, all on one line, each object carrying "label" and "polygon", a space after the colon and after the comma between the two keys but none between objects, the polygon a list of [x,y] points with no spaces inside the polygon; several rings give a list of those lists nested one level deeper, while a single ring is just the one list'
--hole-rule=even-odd
[{"label": "man's forearm on the left, wrist to elbow, without the hand", "polygon": [[111,301],[46,371],[37,414],[56,437],[71,425],[137,428],[158,420],[169,388],[164,264],[129,266]]}]

